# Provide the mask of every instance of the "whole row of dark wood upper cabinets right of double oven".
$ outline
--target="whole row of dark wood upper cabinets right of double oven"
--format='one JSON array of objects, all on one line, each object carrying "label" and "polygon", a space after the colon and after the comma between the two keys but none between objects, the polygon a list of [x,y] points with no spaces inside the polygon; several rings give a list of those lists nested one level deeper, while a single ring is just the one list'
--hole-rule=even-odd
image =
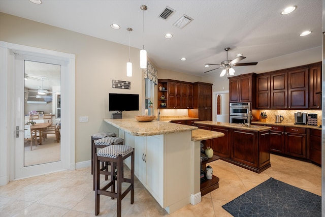
[{"label": "whole row of dark wood upper cabinets right of double oven", "polygon": [[256,108],[321,109],[321,63],[258,74]]}]

